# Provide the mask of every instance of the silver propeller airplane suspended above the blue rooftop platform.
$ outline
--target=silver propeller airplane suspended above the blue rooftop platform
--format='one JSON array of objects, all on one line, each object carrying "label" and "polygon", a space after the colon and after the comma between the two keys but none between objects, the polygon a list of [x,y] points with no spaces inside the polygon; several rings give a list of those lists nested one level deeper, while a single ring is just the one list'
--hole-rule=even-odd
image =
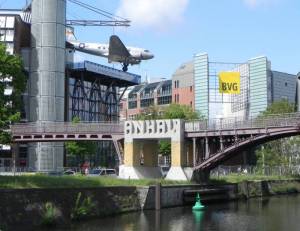
[{"label": "silver propeller airplane suspended above the blue rooftop platform", "polygon": [[67,42],[69,42],[77,51],[106,57],[108,58],[109,63],[121,63],[124,72],[128,70],[129,64],[139,64],[142,60],[148,60],[154,57],[149,50],[137,47],[126,47],[116,35],[110,36],[109,44],[84,43],[76,39],[73,28],[67,28],[66,38]]}]

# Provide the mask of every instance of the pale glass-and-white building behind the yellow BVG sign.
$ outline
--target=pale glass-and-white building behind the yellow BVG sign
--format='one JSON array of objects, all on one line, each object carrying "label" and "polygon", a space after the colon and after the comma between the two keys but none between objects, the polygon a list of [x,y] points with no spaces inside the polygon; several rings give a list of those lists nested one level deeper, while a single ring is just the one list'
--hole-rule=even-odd
[{"label": "pale glass-and-white building behind the yellow BVG sign", "polygon": [[[240,73],[240,94],[219,93],[221,71]],[[265,56],[245,63],[210,61],[207,53],[194,56],[195,110],[208,119],[257,116],[272,102],[296,103],[296,75],[274,71]]]}]

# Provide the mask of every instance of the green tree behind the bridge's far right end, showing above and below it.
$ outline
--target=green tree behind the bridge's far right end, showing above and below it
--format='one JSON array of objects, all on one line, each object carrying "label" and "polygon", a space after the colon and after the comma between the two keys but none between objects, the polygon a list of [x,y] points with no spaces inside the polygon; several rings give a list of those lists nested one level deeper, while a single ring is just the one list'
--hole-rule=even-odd
[{"label": "green tree behind the bridge's far right end, showing above and below it", "polygon": [[[295,105],[289,103],[288,100],[282,99],[275,101],[263,111],[259,118],[264,118],[274,114],[293,113]],[[260,150],[256,151],[257,165],[258,166],[276,166],[291,164],[293,157],[296,157],[295,148],[300,147],[299,137],[290,137],[270,141],[261,146]]]}]

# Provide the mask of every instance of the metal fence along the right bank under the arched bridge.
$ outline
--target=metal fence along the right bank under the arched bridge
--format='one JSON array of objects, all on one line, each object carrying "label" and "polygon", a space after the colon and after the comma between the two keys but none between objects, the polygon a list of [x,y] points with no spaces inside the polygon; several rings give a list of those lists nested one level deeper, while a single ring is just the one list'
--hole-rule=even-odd
[{"label": "metal fence along the right bank under the arched bridge", "polygon": [[230,174],[238,175],[265,175],[265,176],[296,176],[300,175],[300,165],[293,166],[223,166],[219,165],[217,168],[211,170],[211,176],[228,176]]}]

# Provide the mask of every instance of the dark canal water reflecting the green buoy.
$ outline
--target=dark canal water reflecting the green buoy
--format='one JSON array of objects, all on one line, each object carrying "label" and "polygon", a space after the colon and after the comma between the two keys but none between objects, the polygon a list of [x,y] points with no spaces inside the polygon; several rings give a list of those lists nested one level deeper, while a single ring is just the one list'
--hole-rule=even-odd
[{"label": "dark canal water reflecting the green buoy", "polygon": [[300,196],[255,198],[248,201],[214,203],[204,211],[191,207],[127,213],[75,224],[72,230],[300,230]]}]

